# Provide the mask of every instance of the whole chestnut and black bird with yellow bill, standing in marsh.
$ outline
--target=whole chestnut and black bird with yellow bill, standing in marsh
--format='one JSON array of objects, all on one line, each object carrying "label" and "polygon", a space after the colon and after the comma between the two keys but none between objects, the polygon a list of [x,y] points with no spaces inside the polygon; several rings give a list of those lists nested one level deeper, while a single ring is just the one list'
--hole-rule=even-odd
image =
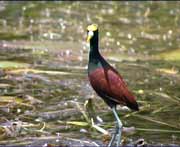
[{"label": "whole chestnut and black bird with yellow bill, standing in marsh", "polygon": [[108,147],[111,147],[116,140],[116,146],[119,146],[123,124],[117,113],[117,105],[127,106],[134,111],[138,111],[139,106],[123,77],[99,52],[98,30],[97,24],[87,26],[87,42],[90,44],[88,79],[96,94],[111,108],[117,122]]}]

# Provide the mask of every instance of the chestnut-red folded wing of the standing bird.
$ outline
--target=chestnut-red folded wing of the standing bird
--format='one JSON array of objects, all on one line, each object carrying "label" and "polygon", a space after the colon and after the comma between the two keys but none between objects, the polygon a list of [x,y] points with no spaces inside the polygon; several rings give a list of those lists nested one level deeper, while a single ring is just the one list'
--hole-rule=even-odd
[{"label": "chestnut-red folded wing of the standing bird", "polygon": [[98,94],[120,104],[134,103],[133,94],[115,69],[98,68],[89,75],[89,79]]}]

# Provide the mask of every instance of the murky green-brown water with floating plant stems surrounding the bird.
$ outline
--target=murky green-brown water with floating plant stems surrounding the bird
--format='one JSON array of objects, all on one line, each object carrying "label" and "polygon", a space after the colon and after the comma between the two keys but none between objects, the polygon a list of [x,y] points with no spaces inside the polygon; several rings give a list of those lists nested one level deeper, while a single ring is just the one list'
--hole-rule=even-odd
[{"label": "murky green-brown water with floating plant stems surrounding the bird", "polygon": [[[0,145],[105,145],[111,110],[87,78],[86,27],[99,24],[101,53],[137,97],[119,115],[124,144],[180,144],[179,2],[0,2]],[[84,111],[82,111],[82,109]]]}]

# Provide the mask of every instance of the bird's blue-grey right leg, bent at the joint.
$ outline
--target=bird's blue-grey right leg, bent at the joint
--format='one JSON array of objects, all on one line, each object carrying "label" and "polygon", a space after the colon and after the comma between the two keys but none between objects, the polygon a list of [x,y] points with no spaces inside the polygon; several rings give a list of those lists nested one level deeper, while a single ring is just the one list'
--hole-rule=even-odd
[{"label": "bird's blue-grey right leg, bent at the joint", "polygon": [[117,121],[116,133],[118,134],[118,138],[117,138],[116,146],[118,147],[120,145],[120,143],[121,143],[122,122],[121,122],[120,118],[118,117],[116,107],[113,107],[112,111],[113,111],[114,116],[115,116],[116,121]]}]

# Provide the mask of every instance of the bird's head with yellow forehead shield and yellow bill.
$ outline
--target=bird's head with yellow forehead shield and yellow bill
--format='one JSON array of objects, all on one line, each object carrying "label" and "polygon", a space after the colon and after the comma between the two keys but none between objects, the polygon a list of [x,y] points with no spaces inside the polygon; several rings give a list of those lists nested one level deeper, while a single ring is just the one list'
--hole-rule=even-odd
[{"label": "bird's head with yellow forehead shield and yellow bill", "polygon": [[98,36],[98,25],[91,24],[87,27],[87,42],[90,42],[90,40],[95,38],[95,36]]}]

